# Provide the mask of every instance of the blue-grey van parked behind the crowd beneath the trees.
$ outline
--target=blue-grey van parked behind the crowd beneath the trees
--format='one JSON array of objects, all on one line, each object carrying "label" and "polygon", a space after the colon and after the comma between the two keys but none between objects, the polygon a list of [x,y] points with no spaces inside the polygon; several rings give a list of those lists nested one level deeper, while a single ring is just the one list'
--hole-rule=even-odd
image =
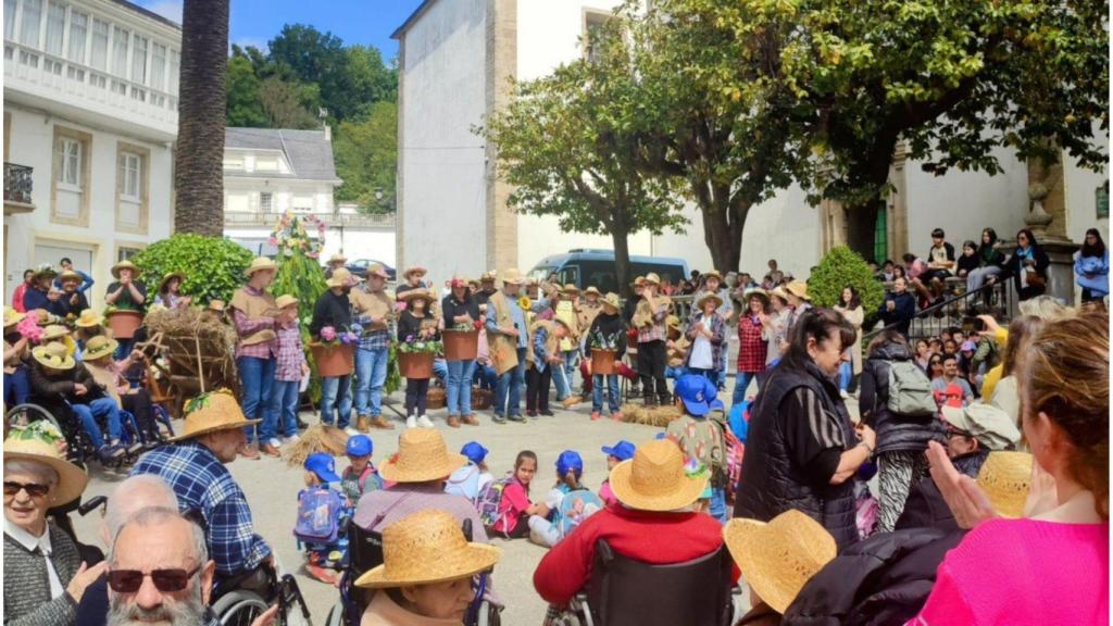
[{"label": "blue-grey van parked behind the crowd beneath the trees", "polygon": [[[543,281],[554,272],[562,285],[572,283],[581,290],[595,285],[603,293],[620,293],[612,250],[573,248],[567,254],[546,256],[530,270],[529,276]],[[672,284],[679,285],[688,277],[688,262],[666,256],[630,257],[630,280],[650,272],[657,273],[662,281],[668,276]]]}]

